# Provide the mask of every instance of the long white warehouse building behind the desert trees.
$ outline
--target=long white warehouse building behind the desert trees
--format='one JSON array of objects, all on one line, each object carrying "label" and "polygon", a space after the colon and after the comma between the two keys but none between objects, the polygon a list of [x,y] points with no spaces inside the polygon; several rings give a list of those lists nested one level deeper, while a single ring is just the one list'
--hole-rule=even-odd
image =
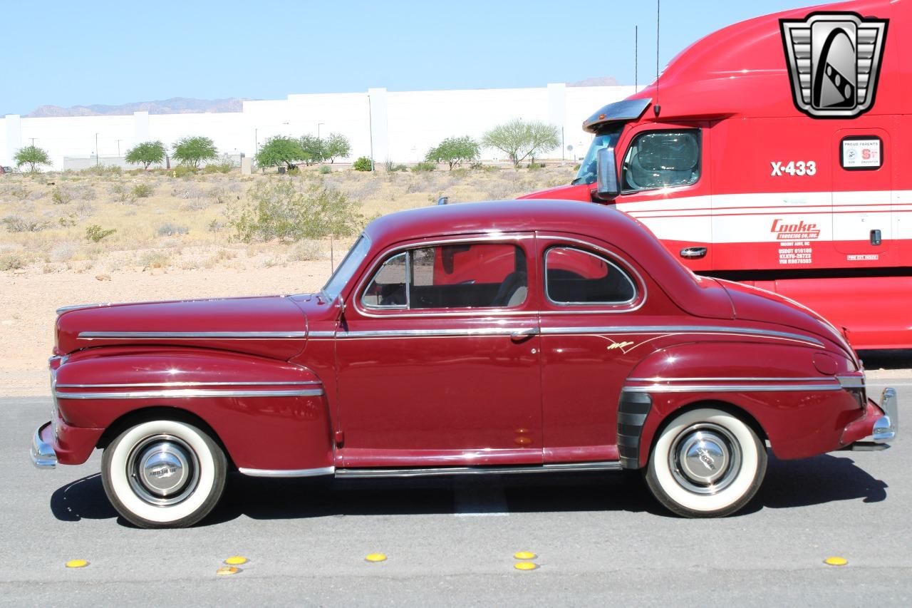
[{"label": "long white warehouse building behind the desert trees", "polygon": [[[299,137],[342,133],[351,142],[352,160],[415,162],[432,146],[452,136],[481,139],[493,126],[513,119],[545,121],[562,131],[563,144],[548,158],[574,159],[592,136],[582,122],[606,103],[622,100],[634,87],[573,87],[564,83],[535,89],[462,89],[289,95],[286,100],[244,101],[240,112],[149,114],[67,118],[0,118],[0,165],[13,165],[16,151],[36,145],[50,154],[53,168],[77,169],[100,162],[122,164],[121,157],[140,142],[166,146],[186,136],[212,138],[219,152],[253,156],[275,135]],[[572,147],[572,148],[571,148]],[[98,155],[98,161],[96,161]],[[487,160],[502,152],[483,150]]]}]

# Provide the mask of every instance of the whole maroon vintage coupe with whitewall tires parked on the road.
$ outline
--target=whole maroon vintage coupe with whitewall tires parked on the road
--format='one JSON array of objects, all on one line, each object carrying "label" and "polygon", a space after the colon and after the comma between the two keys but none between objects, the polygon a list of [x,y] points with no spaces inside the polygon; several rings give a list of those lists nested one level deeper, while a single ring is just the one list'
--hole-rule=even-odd
[{"label": "whole maroon vintage coupe with whitewall tires parked on the road", "polygon": [[62,309],[37,466],[104,449],[138,526],[202,519],[237,470],[410,477],[642,469],[672,511],[743,507],[781,458],[896,435],[838,330],[700,278],[594,204],[435,206],[368,225],[319,293]]}]

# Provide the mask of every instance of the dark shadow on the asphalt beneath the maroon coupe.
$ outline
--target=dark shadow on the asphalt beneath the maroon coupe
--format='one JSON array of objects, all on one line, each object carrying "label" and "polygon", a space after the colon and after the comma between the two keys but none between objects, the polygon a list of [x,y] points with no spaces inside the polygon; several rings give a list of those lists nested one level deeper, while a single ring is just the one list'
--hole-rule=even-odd
[{"label": "dark shadow on the asphalt beneath the maroon coupe", "polygon": [[[756,498],[734,517],[762,508],[799,508],[839,500],[880,502],[886,483],[855,466],[851,456],[779,460],[770,456]],[[61,521],[117,518],[99,474],[59,487],[51,511]],[[627,511],[676,517],[662,508],[642,478],[628,473],[332,480],[264,479],[233,474],[219,505],[201,526],[246,516],[310,519],[345,516]]]}]

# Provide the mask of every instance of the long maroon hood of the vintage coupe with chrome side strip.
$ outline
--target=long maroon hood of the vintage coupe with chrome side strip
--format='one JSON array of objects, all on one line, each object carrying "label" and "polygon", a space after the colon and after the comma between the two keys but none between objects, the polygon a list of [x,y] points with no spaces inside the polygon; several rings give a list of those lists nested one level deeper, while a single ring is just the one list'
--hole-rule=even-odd
[{"label": "long maroon hood of the vintage coupe with chrome side strip", "polygon": [[305,312],[285,296],[106,304],[61,309],[54,351],[179,345],[288,360],[306,334]]}]

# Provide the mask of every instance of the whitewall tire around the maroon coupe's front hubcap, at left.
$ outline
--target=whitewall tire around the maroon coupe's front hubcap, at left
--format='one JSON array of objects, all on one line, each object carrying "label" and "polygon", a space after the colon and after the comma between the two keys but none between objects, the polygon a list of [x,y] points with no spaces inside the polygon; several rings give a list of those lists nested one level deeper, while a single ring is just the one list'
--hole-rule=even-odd
[{"label": "whitewall tire around the maroon coupe's front hubcap, at left", "polygon": [[[156,499],[154,489],[135,475],[137,451],[156,446],[156,441],[175,446],[185,456],[188,478],[171,497],[171,504],[167,495]],[[105,448],[101,478],[111,504],[130,523],[140,528],[184,528],[200,521],[218,503],[227,467],[222,448],[205,431],[176,420],[152,420],[130,427]]]}]

